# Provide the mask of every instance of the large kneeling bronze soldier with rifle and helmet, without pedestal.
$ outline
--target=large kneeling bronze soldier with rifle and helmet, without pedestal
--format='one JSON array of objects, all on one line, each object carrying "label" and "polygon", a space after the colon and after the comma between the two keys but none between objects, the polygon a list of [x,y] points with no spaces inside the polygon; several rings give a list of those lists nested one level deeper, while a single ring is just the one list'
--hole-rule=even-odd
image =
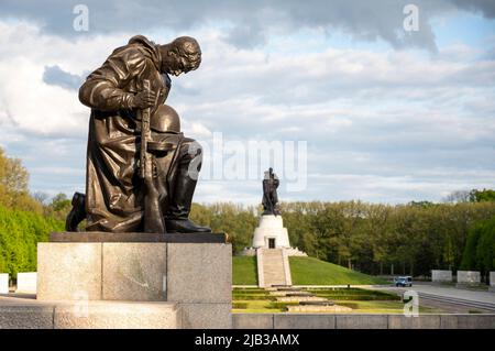
[{"label": "large kneeling bronze soldier with rifle and helmet, without pedestal", "polygon": [[87,219],[88,231],[210,232],[188,219],[201,149],[164,105],[168,75],[200,63],[193,37],[156,45],[136,35],[88,76],[79,89],[91,108],[86,196],[74,196],[67,230]]}]

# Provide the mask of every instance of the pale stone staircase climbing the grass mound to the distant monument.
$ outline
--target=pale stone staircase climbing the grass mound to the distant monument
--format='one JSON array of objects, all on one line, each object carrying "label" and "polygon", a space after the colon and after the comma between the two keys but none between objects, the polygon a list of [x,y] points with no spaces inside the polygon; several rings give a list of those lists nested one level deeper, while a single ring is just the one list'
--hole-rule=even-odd
[{"label": "pale stone staircase climbing the grass mound to the distant monument", "polygon": [[292,285],[290,267],[284,249],[257,249],[260,286]]}]

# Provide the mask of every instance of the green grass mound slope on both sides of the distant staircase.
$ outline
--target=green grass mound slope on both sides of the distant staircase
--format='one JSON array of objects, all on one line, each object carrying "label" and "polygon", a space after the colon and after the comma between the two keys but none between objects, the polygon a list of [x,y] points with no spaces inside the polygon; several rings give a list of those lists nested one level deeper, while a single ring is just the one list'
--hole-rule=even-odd
[{"label": "green grass mound slope on both sides of the distant staircase", "polygon": [[[348,270],[315,257],[289,257],[294,285],[386,284],[374,276]],[[257,285],[256,257],[232,257],[232,284]]]}]

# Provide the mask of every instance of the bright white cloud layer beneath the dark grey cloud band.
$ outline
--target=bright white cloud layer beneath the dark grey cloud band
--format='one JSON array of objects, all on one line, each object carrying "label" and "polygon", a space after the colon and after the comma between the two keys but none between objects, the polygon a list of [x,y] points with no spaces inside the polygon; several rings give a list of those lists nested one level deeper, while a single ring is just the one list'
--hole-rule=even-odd
[{"label": "bright white cloud layer beneath the dark grey cloud band", "polygon": [[[215,28],[188,34],[204,63],[174,78],[167,103],[188,136],[207,142],[215,132],[242,142],[307,140],[308,187],[280,189],[282,199],[439,200],[493,184],[495,57],[482,47],[458,43],[435,57],[336,48],[316,31],[308,43],[239,50]],[[0,22],[1,144],[25,161],[33,190],[84,190],[89,110],[74,90],[44,83],[45,67],[80,76],[131,35],[66,40]],[[258,180],[204,179],[196,198],[257,204],[260,193]]]}]

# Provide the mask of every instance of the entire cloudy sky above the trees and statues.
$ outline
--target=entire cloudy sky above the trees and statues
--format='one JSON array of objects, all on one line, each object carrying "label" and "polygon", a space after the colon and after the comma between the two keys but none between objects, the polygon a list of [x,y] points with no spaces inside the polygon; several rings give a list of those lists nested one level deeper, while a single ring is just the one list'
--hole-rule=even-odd
[{"label": "entire cloudy sky above the trees and statues", "polygon": [[85,190],[77,89],[135,34],[201,44],[167,100],[206,146],[197,201],[260,202],[268,164],[283,200],[495,187],[495,1],[0,0],[0,146],[33,193]]}]

